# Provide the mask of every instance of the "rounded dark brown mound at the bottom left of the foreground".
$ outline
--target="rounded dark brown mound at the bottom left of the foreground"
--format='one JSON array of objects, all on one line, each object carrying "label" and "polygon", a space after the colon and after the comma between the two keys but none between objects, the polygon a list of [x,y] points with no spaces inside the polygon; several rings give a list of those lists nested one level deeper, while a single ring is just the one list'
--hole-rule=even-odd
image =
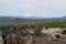
[{"label": "rounded dark brown mound at the bottom left of the foreground", "polygon": [[10,34],[7,36],[7,44],[23,44],[23,38],[18,34]]}]

